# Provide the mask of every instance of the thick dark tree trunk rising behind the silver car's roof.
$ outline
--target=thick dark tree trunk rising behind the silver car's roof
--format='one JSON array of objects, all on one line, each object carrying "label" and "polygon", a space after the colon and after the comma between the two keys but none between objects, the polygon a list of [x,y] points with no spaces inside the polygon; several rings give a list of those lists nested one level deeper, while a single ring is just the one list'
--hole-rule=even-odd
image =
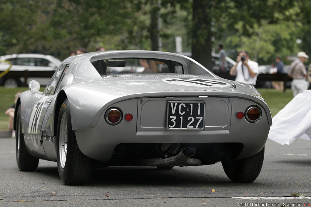
[{"label": "thick dark tree trunk rising behind the silver car's roof", "polygon": [[211,3],[193,1],[192,58],[207,69],[212,69]]}]

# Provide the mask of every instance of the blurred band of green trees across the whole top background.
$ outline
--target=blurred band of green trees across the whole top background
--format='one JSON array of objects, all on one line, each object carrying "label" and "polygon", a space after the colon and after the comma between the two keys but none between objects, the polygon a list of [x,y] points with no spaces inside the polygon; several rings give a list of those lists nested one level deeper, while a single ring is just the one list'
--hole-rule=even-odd
[{"label": "blurred band of green trees across the whole top background", "polygon": [[232,59],[243,49],[260,65],[275,56],[289,64],[285,57],[299,51],[311,55],[309,0],[0,2],[0,55],[39,52],[63,60],[78,47],[100,46],[175,52],[175,36],[182,37],[183,52],[207,67],[219,43]]}]

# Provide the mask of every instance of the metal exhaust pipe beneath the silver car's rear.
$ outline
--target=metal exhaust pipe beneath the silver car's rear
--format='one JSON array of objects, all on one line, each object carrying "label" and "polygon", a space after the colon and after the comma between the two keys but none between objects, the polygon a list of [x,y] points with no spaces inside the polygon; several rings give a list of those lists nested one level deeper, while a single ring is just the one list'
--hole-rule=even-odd
[{"label": "metal exhaust pipe beneath the silver car's rear", "polygon": [[168,158],[155,158],[155,159],[137,159],[133,160],[134,166],[168,166],[168,167],[184,167],[184,166],[198,166],[202,162],[199,159],[191,158],[194,155],[194,149],[187,147],[184,148],[178,155]]}]

